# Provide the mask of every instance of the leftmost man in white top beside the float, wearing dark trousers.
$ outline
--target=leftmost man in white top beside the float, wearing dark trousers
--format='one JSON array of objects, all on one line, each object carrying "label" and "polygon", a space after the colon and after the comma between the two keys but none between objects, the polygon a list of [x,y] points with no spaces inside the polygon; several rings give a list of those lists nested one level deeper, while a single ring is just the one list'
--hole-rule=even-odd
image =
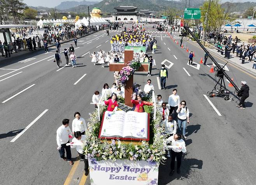
[{"label": "leftmost man in white top beside the float, wearing dark trousers", "polygon": [[[71,150],[70,146],[66,144],[69,143],[69,138],[72,138],[71,129],[68,127],[69,119],[62,120],[62,125],[57,129],[56,141],[57,141],[57,150],[60,152],[60,157],[64,161],[68,161],[70,165],[73,165],[71,160]],[[67,152],[67,157],[65,157],[65,150]]]}]

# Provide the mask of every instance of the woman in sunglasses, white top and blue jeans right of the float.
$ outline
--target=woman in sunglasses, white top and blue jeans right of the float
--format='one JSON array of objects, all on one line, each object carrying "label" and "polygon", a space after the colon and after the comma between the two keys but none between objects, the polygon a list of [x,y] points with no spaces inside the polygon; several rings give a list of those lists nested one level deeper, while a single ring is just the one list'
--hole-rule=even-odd
[{"label": "woman in sunglasses, white top and blue jeans right of the float", "polygon": [[186,101],[182,100],[179,108],[177,109],[178,114],[178,126],[179,132],[181,133],[181,125],[182,125],[182,135],[185,139],[186,137],[186,125],[189,123],[189,110],[186,107]]}]

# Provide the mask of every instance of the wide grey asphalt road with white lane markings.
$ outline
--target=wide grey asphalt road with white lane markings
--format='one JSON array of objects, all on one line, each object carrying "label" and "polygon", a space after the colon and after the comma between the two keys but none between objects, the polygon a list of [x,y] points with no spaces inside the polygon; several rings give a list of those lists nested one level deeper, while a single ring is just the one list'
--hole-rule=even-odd
[{"label": "wide grey asphalt road with white lane markings", "polygon": [[[161,94],[163,100],[168,101],[172,89],[177,88],[181,99],[187,101],[191,113],[191,123],[187,127],[188,152],[182,161],[181,174],[168,176],[168,159],[160,166],[159,184],[254,184],[256,145],[252,138],[256,131],[253,109],[256,77],[245,74],[242,69],[233,65],[227,66],[228,75],[234,78],[238,86],[240,81],[247,81],[250,97],[246,100],[245,110],[237,108],[235,101],[210,98],[221,114],[219,116],[203,96],[214,86],[214,74],[209,73],[210,67],[200,65],[196,69],[196,65],[187,65],[186,50],[181,49],[166,33],[156,32],[151,26],[146,28],[153,31],[153,36],[158,40],[158,48],[153,55],[156,68],[150,77],[156,94]],[[116,33],[111,31],[110,35]],[[178,33],[174,33],[174,36],[179,40]],[[58,70],[53,63],[54,49],[49,53],[38,51],[19,60],[0,63],[0,102],[31,86],[5,103],[0,103],[1,184],[51,185],[65,182],[72,166],[59,157],[56,150],[56,129],[63,118],[72,120],[75,111],[88,119],[88,114],[93,111],[93,105],[89,104],[93,92],[100,91],[105,82],[111,85],[114,81],[109,68],[94,66],[88,53],[100,49],[109,51],[110,44],[106,42],[109,39],[105,31],[81,38],[75,49],[79,56],[78,67],[74,69],[65,67]],[[61,46],[68,48],[69,45],[70,43],[66,43]],[[194,61],[199,64],[203,50],[189,42],[187,46],[193,48],[196,54]],[[64,65],[63,53],[61,57]],[[168,89],[160,90],[156,77],[161,62],[165,59],[173,65],[169,69]],[[22,60],[23,62],[19,62]],[[216,57],[216,60],[224,64],[223,59]],[[165,64],[169,65],[168,62]],[[208,64],[211,66],[210,59]],[[86,75],[77,82],[84,74]],[[147,74],[138,73],[135,74],[134,81],[145,84],[148,78]],[[10,142],[39,115],[41,117],[24,134]],[[72,154],[73,157],[77,156],[75,150],[72,150]]]}]

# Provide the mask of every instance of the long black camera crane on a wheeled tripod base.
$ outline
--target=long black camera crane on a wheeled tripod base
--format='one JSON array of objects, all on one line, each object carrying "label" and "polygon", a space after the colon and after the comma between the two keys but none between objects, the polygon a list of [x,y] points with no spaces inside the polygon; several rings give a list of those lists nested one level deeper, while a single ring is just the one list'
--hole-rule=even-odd
[{"label": "long black camera crane on a wheeled tripod base", "polygon": [[[200,45],[200,47],[203,49],[203,51],[205,51],[205,53],[208,54],[208,56],[210,57],[210,59],[212,60],[212,62],[216,65],[216,67],[214,68],[214,71],[216,71],[215,76],[219,77],[219,80],[216,82],[216,85],[214,86],[214,89],[212,90],[212,92],[208,92],[210,97],[215,96],[215,94],[220,95],[225,97],[225,100],[230,99],[229,96],[229,91],[226,89],[226,85],[224,82],[224,77],[226,77],[226,79],[228,79],[228,81],[233,85],[233,87],[235,88],[235,91],[239,91],[240,89],[237,87],[237,85],[231,80],[231,78],[226,74],[225,70],[223,69],[227,63],[221,67],[221,65],[219,65],[219,63],[216,62],[216,60],[212,57],[212,55],[210,55],[209,51],[207,51],[207,49],[202,45],[202,43],[200,43],[200,41],[195,37],[195,35],[191,32],[191,30],[189,29],[189,27],[184,26],[185,31],[181,34],[181,36],[186,36],[188,34],[191,34],[191,36],[196,40],[196,42]],[[219,89],[217,89],[217,85],[220,85]],[[235,92],[234,92],[235,93]]]}]

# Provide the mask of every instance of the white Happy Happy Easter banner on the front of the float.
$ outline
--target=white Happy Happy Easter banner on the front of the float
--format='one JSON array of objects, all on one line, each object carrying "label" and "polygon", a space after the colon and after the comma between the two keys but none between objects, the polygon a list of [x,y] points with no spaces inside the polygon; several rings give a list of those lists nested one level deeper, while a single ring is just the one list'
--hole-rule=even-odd
[{"label": "white Happy Happy Easter banner on the front of the float", "polygon": [[157,185],[158,164],[128,159],[89,161],[91,185]]}]

